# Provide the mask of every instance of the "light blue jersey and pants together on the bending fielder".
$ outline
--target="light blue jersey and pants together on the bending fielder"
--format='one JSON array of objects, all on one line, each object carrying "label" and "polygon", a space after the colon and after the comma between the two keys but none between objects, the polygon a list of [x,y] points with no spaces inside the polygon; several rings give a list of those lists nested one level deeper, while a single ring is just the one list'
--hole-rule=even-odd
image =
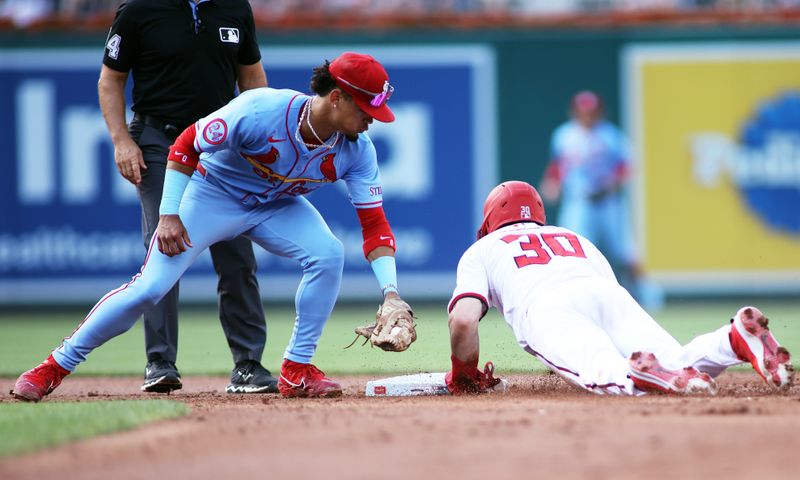
[{"label": "light blue jersey and pants together on the bending fielder", "polygon": [[200,163],[179,208],[193,246],[170,257],[152,241],[141,273],[104,296],[53,352],[59,365],[74,370],[133,326],[203,250],[240,235],[303,270],[284,358],[310,363],[339,294],[344,248],[304,196],[342,179],[355,208],[383,203],[375,147],[365,133],[352,141],[338,135],[331,148],[311,151],[297,140],[298,118],[310,100],[293,90],[253,89],[195,123]]}]

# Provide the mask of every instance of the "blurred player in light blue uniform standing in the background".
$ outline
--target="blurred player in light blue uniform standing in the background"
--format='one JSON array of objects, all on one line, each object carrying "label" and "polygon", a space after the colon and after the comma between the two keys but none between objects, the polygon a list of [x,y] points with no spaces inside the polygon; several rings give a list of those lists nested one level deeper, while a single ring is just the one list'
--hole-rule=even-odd
[{"label": "blurred player in light blue uniform standing in the background", "polygon": [[631,295],[657,310],[663,293],[644,278],[633,239],[626,192],[632,168],[628,140],[605,119],[603,101],[594,92],[572,97],[570,117],[551,136],[542,198],[560,201],[557,223],[597,245]]}]

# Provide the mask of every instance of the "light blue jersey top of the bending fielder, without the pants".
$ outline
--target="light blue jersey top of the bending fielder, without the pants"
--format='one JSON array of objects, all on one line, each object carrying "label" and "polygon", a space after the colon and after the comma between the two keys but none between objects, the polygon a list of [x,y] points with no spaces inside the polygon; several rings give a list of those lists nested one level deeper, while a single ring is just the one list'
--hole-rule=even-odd
[{"label": "light blue jersey top of the bending fielder, without the pants", "polygon": [[366,133],[338,137],[331,149],[297,141],[300,111],[311,97],[294,90],[248,90],[195,124],[203,169],[246,205],[306,195],[338,179],[356,208],[383,203],[375,147]]}]

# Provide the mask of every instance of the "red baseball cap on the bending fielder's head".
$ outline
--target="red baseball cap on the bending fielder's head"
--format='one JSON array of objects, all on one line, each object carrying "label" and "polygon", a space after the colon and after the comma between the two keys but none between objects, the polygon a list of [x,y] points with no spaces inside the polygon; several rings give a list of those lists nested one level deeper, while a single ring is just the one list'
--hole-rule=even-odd
[{"label": "red baseball cap on the bending fielder's head", "polygon": [[394,87],[389,75],[377,60],[363,53],[345,52],[334,59],[328,69],[336,85],[353,97],[367,115],[380,122],[394,121],[394,113],[386,102]]}]

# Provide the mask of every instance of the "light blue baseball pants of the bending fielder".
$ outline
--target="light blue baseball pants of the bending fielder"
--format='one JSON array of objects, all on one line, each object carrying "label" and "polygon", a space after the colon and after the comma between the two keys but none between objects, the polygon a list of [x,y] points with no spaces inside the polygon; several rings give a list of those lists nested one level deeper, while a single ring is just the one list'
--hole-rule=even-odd
[{"label": "light blue baseball pants of the bending fielder", "polygon": [[295,295],[294,331],[284,357],[310,363],[339,295],[344,266],[342,243],[311,203],[303,197],[287,196],[257,207],[244,206],[195,173],[183,195],[180,217],[194,247],[168,257],[158,251],[158,242],[153,240],[141,272],[103,296],[78,329],[53,351],[58,364],[74,370],[92,350],[128,331],[209,245],[239,235],[300,264],[303,277]]}]

